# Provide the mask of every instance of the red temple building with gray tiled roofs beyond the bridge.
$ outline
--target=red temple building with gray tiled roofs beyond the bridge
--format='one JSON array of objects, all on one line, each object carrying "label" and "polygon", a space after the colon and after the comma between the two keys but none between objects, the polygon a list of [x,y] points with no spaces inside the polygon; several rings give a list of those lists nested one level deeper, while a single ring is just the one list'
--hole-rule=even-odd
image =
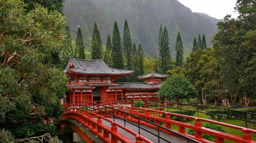
[{"label": "red temple building with gray tiled roofs beyond the bridge", "polygon": [[145,82],[115,83],[116,79],[133,74],[133,70],[113,69],[103,60],[80,60],[70,58],[64,71],[69,90],[61,103],[75,101],[103,102],[112,100],[156,100],[162,79],[168,75],[149,73],[139,76]]}]

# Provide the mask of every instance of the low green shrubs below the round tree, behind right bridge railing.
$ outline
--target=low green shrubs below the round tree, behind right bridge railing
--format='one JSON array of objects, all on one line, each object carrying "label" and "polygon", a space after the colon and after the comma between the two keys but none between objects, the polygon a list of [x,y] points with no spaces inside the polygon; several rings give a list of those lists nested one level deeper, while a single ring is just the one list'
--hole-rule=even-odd
[{"label": "low green shrubs below the round tree, behind right bridge railing", "polygon": [[[177,113],[177,114],[181,114],[181,115],[186,115],[186,116],[194,116],[196,111],[193,111],[195,109],[187,109],[187,110],[180,110],[180,109],[167,109],[165,108],[163,111],[165,112],[172,112],[172,113]],[[165,118],[165,114],[162,115],[163,118]],[[184,120],[184,117],[179,117],[179,116],[173,116],[173,115],[170,115],[170,118],[172,120],[176,120],[176,121],[183,121]]]}]

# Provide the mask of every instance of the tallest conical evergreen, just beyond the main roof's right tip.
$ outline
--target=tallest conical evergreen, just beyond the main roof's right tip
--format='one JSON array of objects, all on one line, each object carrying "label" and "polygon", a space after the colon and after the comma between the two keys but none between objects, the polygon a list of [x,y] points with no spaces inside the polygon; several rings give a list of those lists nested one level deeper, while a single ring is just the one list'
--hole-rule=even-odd
[{"label": "tallest conical evergreen, just beyond the main roof's right tip", "polygon": [[127,24],[127,20],[125,19],[124,28],[123,28],[123,54],[126,60],[125,69],[132,69],[132,39],[129,31],[129,27]]}]

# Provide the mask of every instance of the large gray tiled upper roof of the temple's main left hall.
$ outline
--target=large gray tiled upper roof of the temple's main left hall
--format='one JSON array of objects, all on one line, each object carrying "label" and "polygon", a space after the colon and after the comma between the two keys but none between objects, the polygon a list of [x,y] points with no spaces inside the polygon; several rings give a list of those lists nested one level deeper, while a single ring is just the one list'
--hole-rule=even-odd
[{"label": "large gray tiled upper roof of the temple's main left hall", "polygon": [[130,75],[134,71],[110,68],[101,59],[81,60],[70,58],[69,64],[64,72],[75,72],[82,74]]}]

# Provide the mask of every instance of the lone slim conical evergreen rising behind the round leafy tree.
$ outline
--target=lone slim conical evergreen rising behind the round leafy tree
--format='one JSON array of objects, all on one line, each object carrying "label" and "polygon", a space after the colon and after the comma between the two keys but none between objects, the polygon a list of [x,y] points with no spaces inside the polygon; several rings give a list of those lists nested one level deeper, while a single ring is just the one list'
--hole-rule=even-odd
[{"label": "lone slim conical evergreen rising behind the round leafy tree", "polygon": [[182,44],[180,33],[178,33],[177,35],[175,49],[177,51],[175,66],[182,67],[183,66],[183,44]]}]

